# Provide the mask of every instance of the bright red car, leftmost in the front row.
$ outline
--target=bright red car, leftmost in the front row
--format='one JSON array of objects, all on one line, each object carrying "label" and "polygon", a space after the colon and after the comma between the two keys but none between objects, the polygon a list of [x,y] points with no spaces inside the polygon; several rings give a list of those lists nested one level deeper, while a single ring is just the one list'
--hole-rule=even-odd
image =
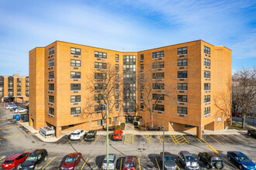
[{"label": "bright red car, leftmost in the front row", "polygon": [[26,152],[22,154],[14,154],[10,156],[9,158],[5,159],[5,162],[2,163],[3,169],[12,169],[12,168],[18,168],[22,165],[23,162],[25,162],[26,158],[31,155],[31,153]]}]

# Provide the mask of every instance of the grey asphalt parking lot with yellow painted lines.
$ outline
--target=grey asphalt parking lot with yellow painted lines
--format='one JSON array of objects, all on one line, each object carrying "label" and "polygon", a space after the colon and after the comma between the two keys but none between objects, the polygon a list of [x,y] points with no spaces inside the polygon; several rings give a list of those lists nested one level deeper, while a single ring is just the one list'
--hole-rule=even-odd
[{"label": "grey asphalt parking lot with yellow painted lines", "polygon": [[[71,152],[81,152],[82,159],[78,169],[101,169],[106,155],[106,136],[96,135],[95,141],[71,141],[64,136],[54,143],[44,143],[34,134],[22,128],[17,121],[9,120],[13,113],[0,106],[0,157],[9,157],[14,153],[34,151],[36,148],[45,148],[48,151],[46,162],[40,169],[58,169],[64,157]],[[138,158],[137,169],[161,169],[159,154],[164,149],[177,158],[179,151],[189,151],[197,158],[200,151],[216,151],[223,158],[225,169],[237,169],[228,161],[227,151],[242,151],[255,162],[256,138],[246,134],[203,135],[198,139],[193,135],[133,135],[126,134],[123,141],[113,141],[109,134],[109,153],[118,155],[116,169],[122,169],[126,155],[135,155]],[[4,160],[4,159],[3,159]],[[0,162],[2,163],[3,160]],[[175,161],[178,169],[184,169],[180,162]],[[202,162],[200,167],[206,168]]]}]

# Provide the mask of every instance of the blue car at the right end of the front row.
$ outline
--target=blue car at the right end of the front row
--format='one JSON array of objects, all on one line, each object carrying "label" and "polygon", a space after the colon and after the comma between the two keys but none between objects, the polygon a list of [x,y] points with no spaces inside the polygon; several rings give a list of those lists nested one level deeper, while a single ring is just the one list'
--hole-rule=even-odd
[{"label": "blue car at the right end of the front row", "polygon": [[256,169],[256,165],[240,151],[227,151],[227,158],[239,169]]}]

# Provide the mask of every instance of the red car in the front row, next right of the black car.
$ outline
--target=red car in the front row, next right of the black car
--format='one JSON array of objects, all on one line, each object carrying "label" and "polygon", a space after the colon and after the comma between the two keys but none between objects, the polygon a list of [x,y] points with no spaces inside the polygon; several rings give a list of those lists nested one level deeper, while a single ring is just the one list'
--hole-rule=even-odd
[{"label": "red car in the front row, next right of the black car", "polygon": [[67,155],[67,158],[65,159],[64,163],[61,165],[61,169],[75,169],[75,166],[78,165],[80,160],[81,160],[80,152],[71,153]]}]

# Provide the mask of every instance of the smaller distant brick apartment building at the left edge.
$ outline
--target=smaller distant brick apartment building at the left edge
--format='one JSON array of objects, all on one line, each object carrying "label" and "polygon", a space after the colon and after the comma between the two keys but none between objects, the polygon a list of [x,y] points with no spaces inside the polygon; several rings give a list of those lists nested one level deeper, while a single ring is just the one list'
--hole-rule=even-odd
[{"label": "smaller distant brick apartment building at the left edge", "polygon": [[5,98],[19,103],[29,101],[29,76],[0,76],[0,99]]}]

